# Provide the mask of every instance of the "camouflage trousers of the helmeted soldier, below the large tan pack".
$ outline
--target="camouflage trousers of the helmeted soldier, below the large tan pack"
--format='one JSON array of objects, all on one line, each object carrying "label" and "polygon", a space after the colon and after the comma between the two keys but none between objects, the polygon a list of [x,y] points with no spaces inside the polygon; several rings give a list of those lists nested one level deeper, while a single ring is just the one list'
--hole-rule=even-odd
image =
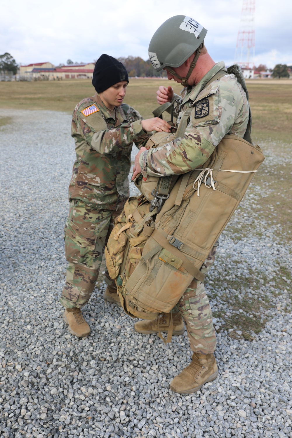
[{"label": "camouflage trousers of the helmeted soldier, below the large tan pack", "polygon": [[[216,247],[211,249],[201,272],[206,274],[214,264]],[[206,295],[204,283],[193,279],[190,286],[176,304],[174,311],[179,311],[185,324],[190,348],[195,353],[214,353],[216,348],[215,329],[213,328],[213,317],[211,306]]]}]

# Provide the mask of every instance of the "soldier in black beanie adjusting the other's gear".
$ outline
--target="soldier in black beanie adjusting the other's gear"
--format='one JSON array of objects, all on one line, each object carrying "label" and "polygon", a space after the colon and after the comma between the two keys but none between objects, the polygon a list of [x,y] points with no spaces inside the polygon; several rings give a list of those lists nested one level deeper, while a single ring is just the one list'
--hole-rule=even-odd
[{"label": "soldier in black beanie adjusting the other's gear", "polygon": [[[149,131],[169,132],[158,117],[143,120],[123,103],[129,78],[122,63],[103,54],[96,61],[92,85],[96,93],[77,103],[71,125],[76,160],[69,185],[69,215],[65,225],[66,284],[60,297],[70,333],[88,336],[81,307],[91,297],[102,254],[114,219],[129,198],[131,150],[142,147]],[[146,150],[146,149],[145,149]],[[78,206],[78,207],[77,207]],[[116,284],[105,272],[104,299],[120,305]]]}]

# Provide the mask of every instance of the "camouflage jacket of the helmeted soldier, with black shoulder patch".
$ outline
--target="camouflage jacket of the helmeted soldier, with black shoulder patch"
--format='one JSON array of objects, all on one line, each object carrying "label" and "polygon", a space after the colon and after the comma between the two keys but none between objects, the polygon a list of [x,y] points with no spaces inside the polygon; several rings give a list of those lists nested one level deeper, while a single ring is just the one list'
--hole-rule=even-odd
[{"label": "camouflage jacket of the helmeted soldier, with black shoulder patch", "polygon": [[189,106],[193,107],[184,137],[142,152],[140,166],[143,177],[190,172],[207,161],[226,134],[244,136],[249,104],[234,74],[226,71],[225,76],[204,88],[219,70],[225,70],[224,62],[212,67],[190,92],[188,88],[183,88],[182,114]]}]

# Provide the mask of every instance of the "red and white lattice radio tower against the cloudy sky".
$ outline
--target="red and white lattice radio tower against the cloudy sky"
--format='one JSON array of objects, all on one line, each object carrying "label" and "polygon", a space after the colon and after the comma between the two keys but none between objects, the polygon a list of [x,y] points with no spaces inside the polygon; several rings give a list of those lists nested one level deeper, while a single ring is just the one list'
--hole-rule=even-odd
[{"label": "red and white lattice radio tower against the cloudy sky", "polygon": [[243,0],[240,27],[237,35],[235,63],[244,69],[254,67],[254,12],[256,0]]}]

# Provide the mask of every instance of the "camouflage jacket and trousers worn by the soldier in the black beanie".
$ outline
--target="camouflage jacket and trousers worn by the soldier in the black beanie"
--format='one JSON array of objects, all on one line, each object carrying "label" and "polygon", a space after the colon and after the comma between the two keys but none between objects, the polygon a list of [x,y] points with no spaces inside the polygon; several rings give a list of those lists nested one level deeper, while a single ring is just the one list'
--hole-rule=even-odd
[{"label": "camouflage jacket and trousers worn by the soldier in the black beanie", "polygon": [[[85,109],[95,105],[94,113]],[[83,112],[82,112],[83,111]],[[98,93],[74,109],[71,135],[76,160],[69,186],[70,210],[65,225],[65,254],[69,262],[60,302],[82,307],[94,290],[113,220],[129,197],[131,150],[148,139],[142,117],[126,104],[109,110]],[[113,286],[109,275],[106,283]]]}]

